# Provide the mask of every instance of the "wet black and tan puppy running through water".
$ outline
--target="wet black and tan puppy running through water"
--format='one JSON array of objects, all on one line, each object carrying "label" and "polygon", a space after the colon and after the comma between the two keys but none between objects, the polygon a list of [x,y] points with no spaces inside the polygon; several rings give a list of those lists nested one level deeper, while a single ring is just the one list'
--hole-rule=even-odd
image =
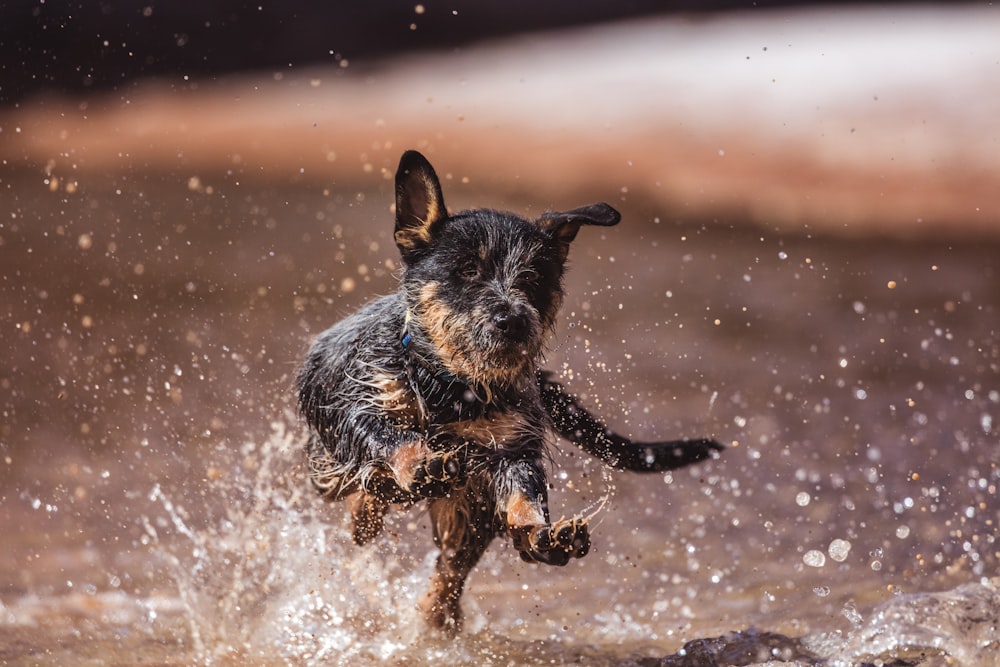
[{"label": "wet black and tan puppy running through water", "polygon": [[551,431],[623,470],[670,470],[722,449],[633,443],[539,368],[570,243],[583,225],[619,219],[607,204],[534,222],[449,215],[433,168],[408,151],[396,172],[401,288],[320,334],[299,372],[310,476],[326,498],[350,498],[354,541],[374,539],[390,505],[428,501],[441,554],[421,608],[446,634],[459,630],[465,579],[497,535],[529,562],[565,565],[589,550],[585,519],[549,519]]}]

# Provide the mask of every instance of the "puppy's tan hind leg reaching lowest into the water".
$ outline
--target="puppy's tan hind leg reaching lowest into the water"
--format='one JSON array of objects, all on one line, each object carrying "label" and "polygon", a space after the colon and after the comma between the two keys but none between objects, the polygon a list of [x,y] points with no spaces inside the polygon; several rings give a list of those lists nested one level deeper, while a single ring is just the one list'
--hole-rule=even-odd
[{"label": "puppy's tan hind leg reaching lowest into the water", "polygon": [[462,629],[459,599],[469,572],[496,534],[496,513],[492,501],[478,493],[434,499],[429,511],[441,553],[420,609],[428,625],[451,637]]}]

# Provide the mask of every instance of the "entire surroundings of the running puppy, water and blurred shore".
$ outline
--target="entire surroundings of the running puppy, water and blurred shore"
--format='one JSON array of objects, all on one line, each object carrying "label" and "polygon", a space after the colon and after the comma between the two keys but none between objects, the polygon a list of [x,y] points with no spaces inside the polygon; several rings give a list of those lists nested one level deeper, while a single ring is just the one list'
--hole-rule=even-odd
[{"label": "entire surroundings of the running puppy, water and blurred shore", "polygon": [[[0,661],[661,664],[760,628],[992,664],[995,3],[361,4],[0,7]],[[498,542],[451,647],[419,508],[354,548],[294,417],[310,339],[394,289],[407,148],[453,209],[619,208],[548,365],[636,438],[733,445],[558,448],[555,514],[610,499],[594,552]]]}]

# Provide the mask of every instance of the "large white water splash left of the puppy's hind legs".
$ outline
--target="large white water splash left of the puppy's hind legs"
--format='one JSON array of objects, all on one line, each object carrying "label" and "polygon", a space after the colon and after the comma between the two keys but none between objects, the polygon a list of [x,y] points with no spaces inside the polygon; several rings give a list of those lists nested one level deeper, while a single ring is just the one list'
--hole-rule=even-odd
[{"label": "large white water splash left of the puppy's hind legs", "polygon": [[[414,640],[416,599],[430,563],[406,568],[351,548],[346,531],[326,525],[302,478],[301,440],[272,425],[261,445],[240,449],[240,476],[218,482],[225,516],[191,526],[188,511],[155,486],[169,538],[145,519],[186,607],[196,658],[244,657],[350,661],[399,653]],[[159,522],[161,525],[163,521]]]}]

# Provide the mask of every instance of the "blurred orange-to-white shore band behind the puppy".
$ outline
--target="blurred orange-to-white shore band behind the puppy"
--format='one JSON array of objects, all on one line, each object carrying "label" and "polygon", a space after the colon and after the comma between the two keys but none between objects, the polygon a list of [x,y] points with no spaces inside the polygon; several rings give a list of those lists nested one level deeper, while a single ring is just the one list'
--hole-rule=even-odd
[{"label": "blurred orange-to-white shore band behind the puppy", "polygon": [[818,9],[633,20],[365,71],[147,80],[0,111],[2,168],[67,196],[137,169],[192,188],[355,190],[388,180],[416,147],[480,200],[608,199],[783,233],[995,240],[997,34],[1000,12],[985,7]]}]

